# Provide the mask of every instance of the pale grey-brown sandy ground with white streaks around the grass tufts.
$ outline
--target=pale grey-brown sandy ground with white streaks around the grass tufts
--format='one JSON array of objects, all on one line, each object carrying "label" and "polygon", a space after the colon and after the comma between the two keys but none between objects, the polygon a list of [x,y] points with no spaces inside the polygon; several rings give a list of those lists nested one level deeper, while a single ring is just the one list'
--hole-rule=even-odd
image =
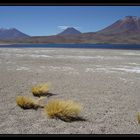
[{"label": "pale grey-brown sandy ground with white streaks around the grass tufts", "polygon": [[[86,121],[48,119],[43,109],[22,110],[17,95],[50,82],[46,98],[83,105]],[[140,51],[98,49],[0,49],[1,134],[140,134]]]}]

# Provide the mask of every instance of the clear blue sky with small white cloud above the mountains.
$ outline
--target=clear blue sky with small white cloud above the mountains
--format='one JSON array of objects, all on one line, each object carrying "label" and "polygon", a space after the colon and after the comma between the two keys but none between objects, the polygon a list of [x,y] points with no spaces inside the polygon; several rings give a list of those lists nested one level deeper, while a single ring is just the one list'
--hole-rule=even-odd
[{"label": "clear blue sky with small white cloud above the mountains", "polygon": [[55,35],[67,27],[95,32],[125,16],[140,17],[140,6],[0,6],[0,28],[30,36]]}]

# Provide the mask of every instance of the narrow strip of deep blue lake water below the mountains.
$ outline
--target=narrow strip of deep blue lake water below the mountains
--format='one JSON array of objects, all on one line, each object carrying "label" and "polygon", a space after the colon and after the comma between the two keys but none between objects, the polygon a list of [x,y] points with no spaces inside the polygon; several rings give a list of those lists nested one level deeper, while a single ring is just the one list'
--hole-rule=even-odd
[{"label": "narrow strip of deep blue lake water below the mountains", "polygon": [[13,44],[0,48],[85,48],[85,49],[130,49],[140,50],[140,45],[127,44]]}]

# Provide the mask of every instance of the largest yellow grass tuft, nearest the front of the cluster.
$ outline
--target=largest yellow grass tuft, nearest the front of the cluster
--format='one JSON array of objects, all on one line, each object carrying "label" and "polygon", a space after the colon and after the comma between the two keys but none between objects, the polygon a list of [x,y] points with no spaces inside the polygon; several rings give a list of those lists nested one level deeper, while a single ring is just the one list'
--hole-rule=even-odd
[{"label": "largest yellow grass tuft, nearest the front of the cluster", "polygon": [[82,107],[71,100],[52,100],[44,106],[45,113],[50,118],[58,118],[64,121],[76,120],[78,114],[81,112]]}]

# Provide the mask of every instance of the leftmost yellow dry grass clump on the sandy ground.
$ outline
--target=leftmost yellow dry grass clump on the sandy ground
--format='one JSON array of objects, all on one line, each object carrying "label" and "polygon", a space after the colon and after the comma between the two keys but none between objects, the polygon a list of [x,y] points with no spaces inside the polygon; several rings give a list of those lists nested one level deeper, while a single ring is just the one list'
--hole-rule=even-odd
[{"label": "leftmost yellow dry grass clump on the sandy ground", "polygon": [[16,97],[17,105],[19,105],[23,109],[38,109],[39,107],[43,108],[43,106],[38,104],[39,100],[35,100],[26,96]]}]

